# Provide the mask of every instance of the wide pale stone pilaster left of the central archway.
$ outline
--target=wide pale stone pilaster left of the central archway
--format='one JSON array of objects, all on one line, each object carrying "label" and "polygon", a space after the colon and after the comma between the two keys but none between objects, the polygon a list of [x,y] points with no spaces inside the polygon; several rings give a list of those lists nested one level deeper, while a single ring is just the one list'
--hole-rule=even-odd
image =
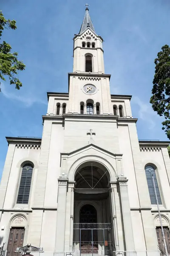
[{"label": "wide pale stone pilaster left of the central archway", "polygon": [[58,179],[57,225],[54,255],[64,256],[67,176]]}]

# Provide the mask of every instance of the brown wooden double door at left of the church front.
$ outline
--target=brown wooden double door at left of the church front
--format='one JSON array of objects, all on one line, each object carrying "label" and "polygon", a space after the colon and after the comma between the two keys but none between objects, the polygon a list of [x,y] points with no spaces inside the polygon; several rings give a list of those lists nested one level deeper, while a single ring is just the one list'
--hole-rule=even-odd
[{"label": "brown wooden double door at left of the church front", "polygon": [[7,246],[7,256],[18,256],[20,254],[15,253],[17,247],[23,247],[25,229],[21,228],[11,228],[8,239]]}]

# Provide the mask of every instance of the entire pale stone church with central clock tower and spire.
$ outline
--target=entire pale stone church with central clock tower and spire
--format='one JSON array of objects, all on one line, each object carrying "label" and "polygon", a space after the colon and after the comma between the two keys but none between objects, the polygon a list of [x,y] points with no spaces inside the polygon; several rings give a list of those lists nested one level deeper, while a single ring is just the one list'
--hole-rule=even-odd
[{"label": "entire pale stone church with central clock tower and spire", "polygon": [[102,44],[86,5],[68,93],[47,93],[42,138],[6,137],[3,256],[27,244],[43,248],[34,256],[164,255],[152,175],[170,254],[170,142],[138,139],[131,96],[110,93]]}]

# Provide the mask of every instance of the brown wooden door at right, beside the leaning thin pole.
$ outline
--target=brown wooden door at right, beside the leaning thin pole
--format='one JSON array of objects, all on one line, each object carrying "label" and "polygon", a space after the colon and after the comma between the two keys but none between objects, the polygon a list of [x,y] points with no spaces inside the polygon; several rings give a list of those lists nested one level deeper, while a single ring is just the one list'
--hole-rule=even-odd
[{"label": "brown wooden door at right, beside the leaning thin pole", "polygon": [[[158,239],[158,246],[162,253],[165,253],[164,240],[161,227],[156,228],[156,235]],[[170,230],[168,227],[164,227],[164,236],[167,245],[168,254],[170,253]]]}]

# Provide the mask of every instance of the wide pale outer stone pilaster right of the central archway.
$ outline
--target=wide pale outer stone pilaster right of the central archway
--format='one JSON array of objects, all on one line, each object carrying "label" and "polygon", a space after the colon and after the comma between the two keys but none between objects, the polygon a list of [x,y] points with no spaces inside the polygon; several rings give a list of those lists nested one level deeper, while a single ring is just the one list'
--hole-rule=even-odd
[{"label": "wide pale outer stone pilaster right of the central archway", "polygon": [[122,207],[122,218],[126,244],[126,256],[136,256],[132,220],[130,214],[129,195],[127,190],[127,178],[125,176],[119,176],[117,182],[119,184],[120,201]]}]

